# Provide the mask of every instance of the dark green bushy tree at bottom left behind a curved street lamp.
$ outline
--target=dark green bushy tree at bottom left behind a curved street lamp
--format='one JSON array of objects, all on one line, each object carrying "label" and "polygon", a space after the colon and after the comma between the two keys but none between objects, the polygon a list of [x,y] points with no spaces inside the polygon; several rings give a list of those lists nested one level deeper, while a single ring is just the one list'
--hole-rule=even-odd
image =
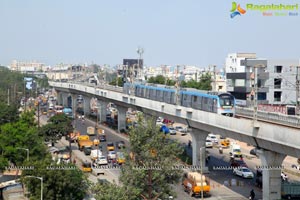
[{"label": "dark green bushy tree at bottom left behind a curved street lamp", "polygon": [[44,200],[83,199],[89,188],[89,183],[83,172],[73,164],[56,165],[51,162],[51,159],[47,157],[32,163],[34,170],[23,171],[21,180],[31,194],[30,199],[40,199],[41,181],[26,176],[43,178]]}]

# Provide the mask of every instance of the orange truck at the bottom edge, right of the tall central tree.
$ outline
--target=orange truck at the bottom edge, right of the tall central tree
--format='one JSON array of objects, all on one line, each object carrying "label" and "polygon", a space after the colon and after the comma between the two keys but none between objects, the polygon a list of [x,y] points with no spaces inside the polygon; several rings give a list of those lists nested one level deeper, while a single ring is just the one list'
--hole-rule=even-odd
[{"label": "orange truck at the bottom edge, right of the tall central tree", "polygon": [[199,196],[203,191],[203,195],[209,195],[210,184],[209,179],[198,172],[188,172],[184,174],[183,189],[190,196]]}]

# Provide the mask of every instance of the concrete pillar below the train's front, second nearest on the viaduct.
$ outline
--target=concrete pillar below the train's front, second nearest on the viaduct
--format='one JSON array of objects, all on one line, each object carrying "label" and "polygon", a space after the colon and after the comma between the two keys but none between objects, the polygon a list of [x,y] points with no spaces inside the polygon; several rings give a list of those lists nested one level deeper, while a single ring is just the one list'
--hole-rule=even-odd
[{"label": "concrete pillar below the train's front, second nearest on the viaduct", "polygon": [[[207,167],[205,167],[205,154],[206,154],[205,141],[207,135],[208,132],[203,130],[192,129],[191,131],[192,148],[193,148],[193,165],[203,166],[203,172],[208,170]],[[202,161],[202,164],[200,163],[200,160]]]}]

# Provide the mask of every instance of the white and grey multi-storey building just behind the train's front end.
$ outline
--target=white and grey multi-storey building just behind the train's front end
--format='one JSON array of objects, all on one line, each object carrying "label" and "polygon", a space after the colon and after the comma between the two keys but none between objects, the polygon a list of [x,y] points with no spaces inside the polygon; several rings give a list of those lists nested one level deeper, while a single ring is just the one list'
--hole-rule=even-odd
[{"label": "white and grey multi-storey building just behind the train's front end", "polygon": [[[257,68],[257,77],[255,77]],[[255,78],[257,78],[258,104],[268,104],[266,81],[267,60],[257,59],[255,53],[228,54],[225,63],[226,87],[236,98],[237,105],[251,106],[255,96]]]}]

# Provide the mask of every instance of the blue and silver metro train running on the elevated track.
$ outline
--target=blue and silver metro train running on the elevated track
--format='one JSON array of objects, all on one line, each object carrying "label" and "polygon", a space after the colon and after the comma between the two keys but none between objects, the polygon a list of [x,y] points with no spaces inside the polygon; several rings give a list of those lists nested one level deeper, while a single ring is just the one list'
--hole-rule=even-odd
[{"label": "blue and silver metro train running on the elevated track", "polygon": [[[134,90],[132,90],[134,89]],[[125,83],[123,92],[141,98],[176,105],[176,89],[166,86]],[[210,93],[196,89],[183,88],[179,90],[179,105],[233,117],[235,115],[235,98],[229,93]]]}]

